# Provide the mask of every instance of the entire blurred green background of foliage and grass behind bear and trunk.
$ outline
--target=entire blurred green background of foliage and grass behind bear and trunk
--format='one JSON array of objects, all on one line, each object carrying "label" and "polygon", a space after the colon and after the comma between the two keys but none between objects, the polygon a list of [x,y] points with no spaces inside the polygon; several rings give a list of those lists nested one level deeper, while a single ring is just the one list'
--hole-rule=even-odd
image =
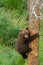
[{"label": "entire blurred green background of foliage and grass behind bear and trunk", "polygon": [[[41,10],[43,14],[43,10]],[[21,29],[28,26],[27,0],[0,0],[0,65],[27,65],[16,51]],[[43,20],[40,21],[40,65],[43,65]]]}]

